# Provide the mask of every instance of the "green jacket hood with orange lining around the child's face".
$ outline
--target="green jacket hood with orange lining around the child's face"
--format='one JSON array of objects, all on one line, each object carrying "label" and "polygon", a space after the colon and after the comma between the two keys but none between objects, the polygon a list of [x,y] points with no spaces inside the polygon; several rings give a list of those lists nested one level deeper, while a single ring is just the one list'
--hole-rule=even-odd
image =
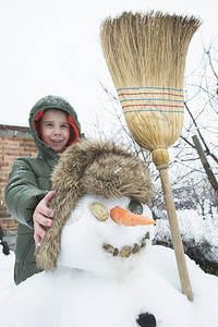
[{"label": "green jacket hood with orange lining around the child's face", "polygon": [[49,95],[39,99],[35,104],[35,106],[31,110],[29,119],[28,119],[31,133],[34,137],[38,152],[43,155],[46,154],[46,156],[50,157],[53,156],[53,150],[39,138],[36,131],[36,121],[38,121],[41,118],[46,109],[60,109],[65,111],[69,114],[69,123],[71,125],[71,131],[72,131],[69,145],[80,140],[81,125],[77,120],[77,114],[75,110],[62,97]]}]

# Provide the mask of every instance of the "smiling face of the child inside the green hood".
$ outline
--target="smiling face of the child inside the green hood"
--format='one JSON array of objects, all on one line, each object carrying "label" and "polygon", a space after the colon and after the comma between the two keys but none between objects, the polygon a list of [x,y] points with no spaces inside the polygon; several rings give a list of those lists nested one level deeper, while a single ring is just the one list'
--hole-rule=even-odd
[{"label": "smiling face of the child inside the green hood", "polygon": [[47,109],[40,120],[39,136],[55,152],[62,153],[70,138],[68,113],[58,109]]}]

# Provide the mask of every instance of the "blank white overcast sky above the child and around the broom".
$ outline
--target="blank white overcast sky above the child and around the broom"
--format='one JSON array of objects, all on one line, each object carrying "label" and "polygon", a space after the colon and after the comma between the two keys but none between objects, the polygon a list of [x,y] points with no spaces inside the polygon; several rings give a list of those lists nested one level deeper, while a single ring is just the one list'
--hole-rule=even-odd
[{"label": "blank white overcast sky above the child and around the broom", "polygon": [[191,43],[192,69],[218,31],[216,0],[0,0],[0,123],[27,125],[35,102],[46,95],[64,97],[82,122],[100,114],[102,90],[113,90],[99,43],[108,15],[161,10],[193,14],[203,25]]}]

